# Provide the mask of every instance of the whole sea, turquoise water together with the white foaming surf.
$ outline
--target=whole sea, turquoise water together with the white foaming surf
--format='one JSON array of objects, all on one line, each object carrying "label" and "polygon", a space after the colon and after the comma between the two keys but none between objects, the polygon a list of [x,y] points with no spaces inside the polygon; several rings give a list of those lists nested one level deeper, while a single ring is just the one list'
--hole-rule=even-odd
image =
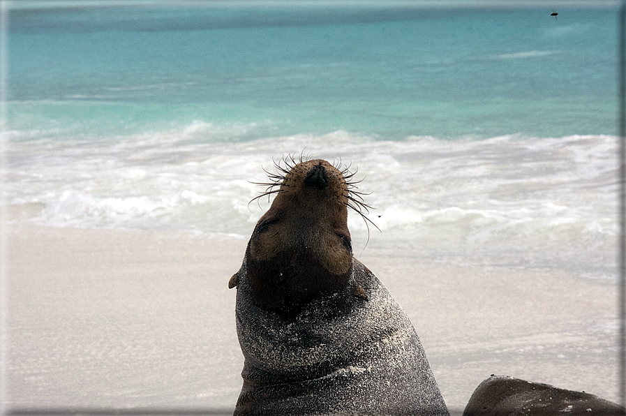
[{"label": "whole sea, turquoise water together with the white foaming surf", "polygon": [[610,278],[617,10],[11,2],[3,198],[20,221],[247,238],[250,181],[304,153],[358,168],[368,244]]}]

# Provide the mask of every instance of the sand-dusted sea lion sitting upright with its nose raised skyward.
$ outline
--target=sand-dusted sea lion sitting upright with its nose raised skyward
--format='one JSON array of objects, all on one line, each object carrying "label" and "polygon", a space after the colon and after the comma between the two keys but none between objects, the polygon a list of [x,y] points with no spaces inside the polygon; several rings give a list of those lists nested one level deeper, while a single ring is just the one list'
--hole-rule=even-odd
[{"label": "sand-dusted sea lion sitting upright with its nose raised skyward", "polygon": [[352,174],[285,163],[229,282],[245,358],[234,414],[448,416],[410,320],[352,257],[348,207],[367,207]]}]

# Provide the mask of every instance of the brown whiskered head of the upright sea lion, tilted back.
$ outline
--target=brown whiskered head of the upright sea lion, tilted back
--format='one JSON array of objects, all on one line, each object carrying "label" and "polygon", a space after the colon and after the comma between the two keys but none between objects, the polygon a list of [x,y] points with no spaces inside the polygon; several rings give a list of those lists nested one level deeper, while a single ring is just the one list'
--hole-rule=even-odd
[{"label": "brown whiskered head of the upright sea lion, tilted back", "polygon": [[285,162],[288,168],[277,165],[282,174],[269,174],[274,183],[263,195],[276,198],[255,226],[244,266],[229,287],[245,279],[252,301],[273,311],[297,310],[334,293],[364,297],[351,279],[348,207],[366,207],[350,182],[353,174],[322,159]]}]

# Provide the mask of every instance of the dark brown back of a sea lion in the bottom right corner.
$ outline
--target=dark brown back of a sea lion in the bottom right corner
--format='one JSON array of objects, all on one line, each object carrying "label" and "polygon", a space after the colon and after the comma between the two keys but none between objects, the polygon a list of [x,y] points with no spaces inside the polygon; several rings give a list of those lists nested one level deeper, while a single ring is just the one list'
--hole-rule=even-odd
[{"label": "dark brown back of a sea lion in the bottom right corner", "polygon": [[585,392],[491,376],[476,388],[463,416],[624,416],[626,409]]}]

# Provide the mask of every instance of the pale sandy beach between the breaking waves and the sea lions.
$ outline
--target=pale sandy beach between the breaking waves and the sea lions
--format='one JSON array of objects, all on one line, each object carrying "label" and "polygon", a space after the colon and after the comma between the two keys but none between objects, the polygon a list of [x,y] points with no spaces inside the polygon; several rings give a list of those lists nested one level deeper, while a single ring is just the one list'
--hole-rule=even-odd
[{"label": "pale sandy beach between the breaking waves and the sea lions", "polygon": [[[8,408],[230,411],[246,240],[10,225]],[[415,262],[366,248],[461,412],[492,373],[618,400],[616,284]]]}]

